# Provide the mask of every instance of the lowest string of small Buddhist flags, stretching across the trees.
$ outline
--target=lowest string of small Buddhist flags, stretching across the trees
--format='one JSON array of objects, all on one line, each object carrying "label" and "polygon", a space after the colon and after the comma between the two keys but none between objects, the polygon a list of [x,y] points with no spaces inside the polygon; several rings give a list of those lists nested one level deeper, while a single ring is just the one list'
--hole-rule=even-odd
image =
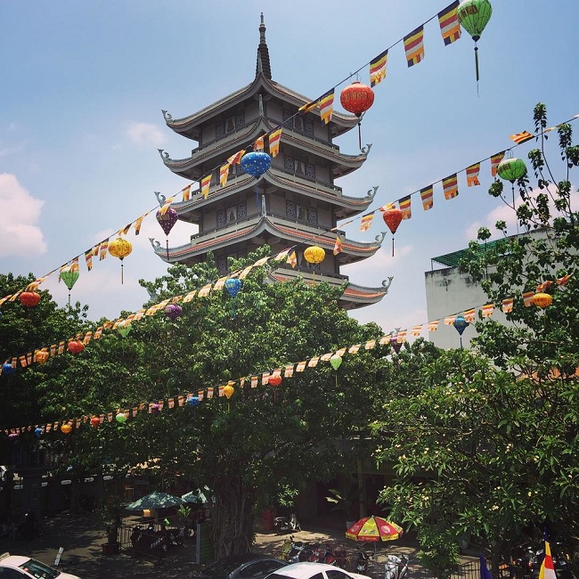
[{"label": "lowest string of small Buddhist flags, stretching across the trees", "polygon": [[[280,255],[281,254],[278,254],[277,257],[279,257]],[[261,261],[263,261],[263,259],[264,258],[262,258]],[[537,286],[536,291],[538,292],[547,290],[552,286],[553,283],[557,284],[559,287],[564,287],[567,285],[567,282],[569,281],[570,277],[571,277],[570,275],[564,275],[555,281],[550,280],[543,281],[541,284],[539,284],[539,286]],[[522,292],[524,306],[529,307],[533,305],[532,298],[534,293],[535,293],[534,290]],[[503,313],[507,314],[512,311],[514,299],[515,299],[514,297],[511,297],[502,300]],[[169,300],[167,300],[167,302],[168,301]],[[465,319],[465,322],[472,323],[475,321],[477,307],[481,308],[480,315],[483,319],[490,318],[493,315],[494,312],[493,304],[474,306],[467,310],[464,310],[463,317]],[[445,325],[452,326],[458,315],[459,313],[451,314],[445,316],[444,318],[439,318],[437,320],[433,320],[428,323],[412,326],[412,329],[410,330],[410,335],[412,337],[417,338],[420,336],[420,332],[425,328],[428,331],[436,331],[438,329],[440,322],[444,322]],[[252,373],[248,376],[241,377],[236,380],[229,380],[227,384],[224,385],[203,387],[195,392],[189,391],[185,394],[177,394],[175,396],[167,397],[167,399],[161,399],[155,402],[132,404],[128,408],[118,408],[114,412],[97,413],[92,418],[89,415],[84,415],[79,418],[56,420],[45,424],[35,424],[18,428],[5,428],[3,432],[8,436],[13,437],[19,436],[20,434],[23,434],[25,432],[35,430],[37,434],[42,435],[50,432],[51,430],[55,431],[59,428],[59,426],[62,427],[63,425],[68,425],[71,429],[73,427],[80,428],[81,425],[89,423],[91,426],[95,427],[100,426],[105,421],[112,422],[119,415],[121,416],[121,419],[118,421],[125,422],[129,418],[135,418],[138,412],[148,412],[150,414],[155,414],[161,412],[166,408],[172,409],[175,408],[175,406],[182,407],[184,404],[191,404],[192,400],[194,401],[195,404],[200,404],[204,400],[211,400],[215,396],[215,394],[218,397],[227,396],[228,393],[225,390],[226,387],[233,387],[236,385],[244,387],[246,384],[249,384],[251,388],[255,388],[260,384],[262,386],[266,386],[269,384],[270,379],[278,377],[281,378],[281,376],[283,376],[283,378],[290,379],[293,378],[296,372],[306,371],[307,368],[315,368],[318,365],[318,363],[330,362],[330,359],[335,358],[336,356],[342,358],[344,355],[355,355],[361,349],[372,350],[377,346],[388,348],[392,347],[397,353],[400,347],[404,344],[404,342],[407,341],[407,335],[408,330],[396,329],[388,334],[381,336],[380,338],[371,339],[366,341],[365,343],[354,344],[347,347],[340,347],[333,352],[328,352],[323,355],[314,355],[306,357],[306,359],[302,360],[301,362],[285,363],[281,366],[278,366],[274,370],[269,369],[266,371],[258,371],[256,373]],[[278,380],[275,381],[276,383],[279,384]],[[67,428],[67,432],[70,432],[70,429]]]}]

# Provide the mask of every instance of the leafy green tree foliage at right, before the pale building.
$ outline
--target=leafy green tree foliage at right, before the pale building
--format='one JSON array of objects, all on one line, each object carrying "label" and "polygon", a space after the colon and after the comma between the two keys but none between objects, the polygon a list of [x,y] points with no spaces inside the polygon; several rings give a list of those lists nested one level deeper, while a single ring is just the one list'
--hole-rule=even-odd
[{"label": "leafy green tree foliage at right, before the pale building", "polygon": [[[547,127],[544,105],[534,121],[537,132]],[[503,239],[491,244],[482,229],[461,264],[496,307],[518,297],[510,325],[477,322],[473,351],[427,363],[419,389],[391,399],[376,424],[379,461],[393,462],[397,474],[383,500],[417,528],[421,557],[440,577],[465,535],[492,554],[496,575],[525,533],[541,537],[547,527],[570,542],[578,534],[579,229],[570,170],[579,148],[570,125],[557,130],[564,178],[555,180],[541,135],[529,152],[536,187],[528,175],[518,180],[513,210],[523,233],[508,237],[499,222]],[[502,182],[489,192],[500,197]],[[520,293],[540,284],[552,305],[525,307]],[[392,432],[393,422],[406,428]]]}]

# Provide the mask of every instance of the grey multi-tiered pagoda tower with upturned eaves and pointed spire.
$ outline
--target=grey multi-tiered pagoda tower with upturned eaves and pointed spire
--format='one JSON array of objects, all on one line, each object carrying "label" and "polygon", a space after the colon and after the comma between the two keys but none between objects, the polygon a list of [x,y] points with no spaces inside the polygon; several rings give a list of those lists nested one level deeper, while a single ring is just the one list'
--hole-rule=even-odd
[{"label": "grey multi-tiered pagoda tower with upturned eaves and pointed spire", "polygon": [[[347,308],[379,302],[391,278],[379,288],[368,288],[348,281],[340,265],[373,256],[385,233],[371,243],[353,241],[336,231],[338,219],[348,219],[366,210],[378,187],[363,197],[345,195],[335,180],[362,167],[371,145],[359,154],[346,155],[332,143],[358,124],[358,118],[334,111],[327,125],[316,107],[306,114],[298,109],[309,100],[272,80],[269,51],[265,43],[264,16],[259,26],[256,76],[248,86],[184,118],[173,118],[163,110],[167,126],[192,139],[199,146],[186,159],[171,159],[159,150],[165,165],[190,181],[200,182],[212,173],[208,196],[200,189],[190,200],[174,201],[179,219],[196,224],[199,232],[186,245],[161,247],[151,239],[155,253],[167,263],[192,265],[212,251],[220,273],[227,273],[227,257],[245,257],[267,243],[273,255],[295,247],[297,265],[285,264],[271,274],[273,281],[302,277],[306,282],[328,281],[332,285],[348,282],[340,305]],[[280,151],[270,169],[258,181],[232,165],[224,187],[219,183],[219,167],[236,152],[251,149],[259,136],[282,127]],[[160,197],[163,201],[162,196]],[[333,230],[333,231],[331,231]],[[333,255],[337,234],[342,251]],[[322,264],[313,266],[304,259],[304,249],[317,245],[325,249]]]}]

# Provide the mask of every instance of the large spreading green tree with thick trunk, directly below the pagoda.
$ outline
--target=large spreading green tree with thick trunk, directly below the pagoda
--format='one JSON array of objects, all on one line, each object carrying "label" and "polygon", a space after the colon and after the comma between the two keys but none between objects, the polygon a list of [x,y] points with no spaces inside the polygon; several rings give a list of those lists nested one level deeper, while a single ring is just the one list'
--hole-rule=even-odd
[{"label": "large spreading green tree with thick trunk, directly below the pagoda", "polygon": [[[232,271],[268,251],[232,262]],[[255,517],[272,497],[330,477],[352,459],[355,448],[339,444],[340,438],[365,428],[383,383],[379,348],[361,348],[344,358],[338,372],[319,363],[278,387],[251,387],[252,375],[261,378],[262,372],[381,334],[375,324],[361,326],[338,306],[343,290],[326,283],[272,283],[268,273],[254,268],[243,280],[234,314],[227,292],[212,291],[183,304],[175,321],[147,316],[127,338],[110,332],[94,340],[45,384],[46,408],[82,415],[196,394],[232,380],[230,400],[214,396],[197,407],[139,412],[121,428],[114,421],[81,428],[66,441],[67,464],[75,469],[106,462],[121,473],[149,462],[165,481],[188,477],[207,485],[216,497],[212,520],[219,556],[249,550]],[[209,257],[192,268],[169,267],[167,275],[143,286],[158,302],[217,277]]]}]

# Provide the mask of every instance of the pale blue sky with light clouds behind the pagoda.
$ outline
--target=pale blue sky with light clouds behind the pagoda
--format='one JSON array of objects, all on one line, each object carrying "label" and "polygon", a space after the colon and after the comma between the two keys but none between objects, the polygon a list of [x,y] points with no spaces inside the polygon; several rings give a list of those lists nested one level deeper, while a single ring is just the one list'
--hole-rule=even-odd
[{"label": "pale blue sky with light clouds behind the pagoda", "polygon": [[[260,12],[273,79],[314,98],[447,4],[390,0],[353,9],[342,0],[4,2],[0,272],[48,273],[154,208],[153,192],[168,197],[180,191],[187,182],[171,174],[157,150],[183,159],[194,143],[170,131],[161,110],[181,118],[249,84]],[[379,208],[509,148],[513,133],[533,132],[536,102],[547,105],[552,125],[579,113],[577,21],[576,0],[493,0],[493,17],[478,43],[478,93],[470,37],[463,33],[444,46],[437,21],[428,22],[424,61],[409,69],[402,45],[390,51],[387,78],[375,87],[374,106],[363,119],[363,143],[372,143],[371,153],[338,184],[361,196],[379,185],[371,209]],[[357,133],[336,143],[354,154]],[[533,143],[515,155],[526,158]],[[559,159],[557,151],[551,154]],[[488,161],[480,187],[467,189],[464,174],[459,183],[454,200],[444,200],[437,184],[428,212],[412,197],[412,219],[396,233],[395,258],[388,234],[374,257],[343,268],[352,281],[370,286],[394,275],[388,295],[353,313],[357,319],[378,322],[385,332],[427,322],[430,258],[466,247],[480,225],[509,220],[501,201],[487,194]],[[357,227],[346,231],[359,241],[385,230],[379,214],[370,232]],[[192,226],[175,226],[170,244],[183,244],[193,232]],[[139,237],[131,234],[134,252],[125,260],[123,285],[118,260],[97,261],[90,273],[81,260],[72,298],[89,305],[92,319],[116,319],[146,301],[138,279],[152,280],[166,267],[149,237],[164,240],[154,216]],[[66,303],[68,291],[56,276],[45,287]]]}]

